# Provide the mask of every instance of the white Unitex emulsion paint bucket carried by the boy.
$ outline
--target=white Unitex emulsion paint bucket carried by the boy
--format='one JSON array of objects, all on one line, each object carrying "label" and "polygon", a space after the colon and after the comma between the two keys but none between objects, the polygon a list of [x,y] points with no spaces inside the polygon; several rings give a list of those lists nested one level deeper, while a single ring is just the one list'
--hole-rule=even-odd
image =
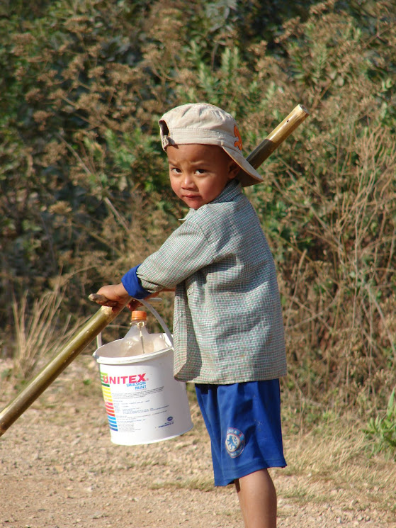
[{"label": "white Unitex emulsion paint bucket carried by the boy", "polygon": [[[157,317],[154,308],[145,305]],[[164,330],[169,346],[158,352],[117,357],[123,339],[103,344],[94,352],[113,444],[152,444],[193,427],[186,384],[174,379],[174,350],[170,332]]]}]

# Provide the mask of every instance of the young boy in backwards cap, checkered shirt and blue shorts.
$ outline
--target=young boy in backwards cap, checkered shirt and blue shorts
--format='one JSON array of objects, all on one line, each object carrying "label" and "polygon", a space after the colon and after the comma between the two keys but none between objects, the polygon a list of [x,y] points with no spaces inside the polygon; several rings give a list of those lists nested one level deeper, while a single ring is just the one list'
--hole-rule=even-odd
[{"label": "young boy in backwards cap, checkered shirt and blue shorts", "polygon": [[120,310],[130,296],[176,288],[174,376],[196,384],[215,485],[235,483],[247,528],[273,528],[276,491],[267,468],[286,465],[283,320],[273,258],[242,193],[262,179],[242,155],[237,123],[220,108],[179,106],[159,127],[171,187],[190,211],[157,252],[98,293]]}]

